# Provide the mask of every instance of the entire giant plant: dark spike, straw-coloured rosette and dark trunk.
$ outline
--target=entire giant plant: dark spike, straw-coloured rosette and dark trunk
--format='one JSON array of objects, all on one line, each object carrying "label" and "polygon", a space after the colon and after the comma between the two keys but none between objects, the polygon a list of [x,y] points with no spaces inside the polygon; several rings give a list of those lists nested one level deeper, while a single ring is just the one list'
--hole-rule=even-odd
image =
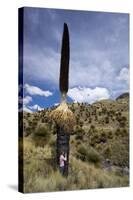
[{"label": "entire giant plant: dark spike, straw-coloured rosette and dark trunk", "polygon": [[50,118],[52,118],[57,125],[57,166],[60,166],[60,155],[61,152],[65,152],[67,159],[65,162],[65,168],[63,170],[63,175],[68,175],[69,166],[69,140],[72,133],[73,127],[76,123],[75,116],[73,112],[68,108],[66,103],[66,94],[68,92],[68,78],[69,78],[69,57],[70,57],[70,47],[69,47],[69,32],[68,26],[64,23],[64,30],[62,36],[62,47],[61,47],[61,64],[60,64],[60,92],[61,92],[61,103],[50,113]]}]

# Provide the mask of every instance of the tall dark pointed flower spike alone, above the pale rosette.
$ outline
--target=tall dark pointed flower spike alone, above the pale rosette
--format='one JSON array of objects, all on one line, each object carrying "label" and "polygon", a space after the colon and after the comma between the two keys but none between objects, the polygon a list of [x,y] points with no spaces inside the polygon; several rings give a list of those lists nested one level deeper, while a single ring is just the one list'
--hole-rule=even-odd
[{"label": "tall dark pointed flower spike alone, above the pale rosette", "polygon": [[69,31],[68,26],[64,23],[64,31],[62,37],[62,48],[61,48],[61,64],[60,64],[60,92],[66,95],[69,87]]}]

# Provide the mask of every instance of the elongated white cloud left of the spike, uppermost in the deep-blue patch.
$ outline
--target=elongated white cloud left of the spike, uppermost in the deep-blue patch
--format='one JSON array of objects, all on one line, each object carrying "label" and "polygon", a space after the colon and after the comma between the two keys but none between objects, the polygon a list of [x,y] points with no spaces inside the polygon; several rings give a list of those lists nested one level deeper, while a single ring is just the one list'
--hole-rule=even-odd
[{"label": "elongated white cloud left of the spike, uppermost in the deep-blue patch", "polygon": [[50,91],[44,91],[44,90],[40,89],[39,87],[32,86],[29,84],[25,84],[24,88],[25,88],[26,92],[30,95],[40,95],[40,96],[45,96],[45,97],[52,95],[52,92],[50,92]]}]

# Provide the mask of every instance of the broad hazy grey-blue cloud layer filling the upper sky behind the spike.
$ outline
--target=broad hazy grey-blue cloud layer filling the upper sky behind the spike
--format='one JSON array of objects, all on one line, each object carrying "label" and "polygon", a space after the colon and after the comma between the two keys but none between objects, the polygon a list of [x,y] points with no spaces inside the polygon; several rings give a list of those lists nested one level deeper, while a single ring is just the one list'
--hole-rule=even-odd
[{"label": "broad hazy grey-blue cloud layer filling the upper sky behind the spike", "polygon": [[[42,81],[57,89],[63,29],[58,20],[62,19],[54,10],[48,10],[48,18],[40,16],[42,13],[39,11],[32,13],[30,20],[27,21],[27,24],[30,22],[30,26],[25,29],[24,77],[26,82]],[[49,19],[52,19],[52,24]],[[68,24],[71,40],[70,88],[80,85],[89,88],[106,87],[110,91],[128,89],[126,81],[120,81],[123,76],[117,79],[118,70],[129,63],[128,15],[99,13],[91,18],[96,23],[89,25],[83,20],[84,16],[80,16],[80,31],[78,24],[73,21],[75,18],[71,19]],[[41,26],[45,20],[47,29]],[[28,32],[31,28],[32,32]],[[40,37],[35,37],[37,29]]]}]

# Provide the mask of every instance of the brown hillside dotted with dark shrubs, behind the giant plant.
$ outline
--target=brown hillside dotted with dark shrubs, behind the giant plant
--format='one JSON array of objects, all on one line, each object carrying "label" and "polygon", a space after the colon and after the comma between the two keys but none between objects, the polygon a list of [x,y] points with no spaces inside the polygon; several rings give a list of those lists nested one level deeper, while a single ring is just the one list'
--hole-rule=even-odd
[{"label": "brown hillside dotted with dark shrubs, behind the giant plant", "polygon": [[[89,145],[98,151],[103,159],[111,159],[119,166],[128,165],[128,97],[129,94],[124,93],[116,100],[100,100],[91,105],[87,103],[69,104],[77,121],[71,137],[74,154],[78,146]],[[49,118],[52,109],[54,107],[35,113],[25,112],[23,135],[33,135],[37,127],[42,125],[49,130],[50,134],[55,134],[54,122]],[[121,154],[125,156],[124,160],[121,159]]]}]

